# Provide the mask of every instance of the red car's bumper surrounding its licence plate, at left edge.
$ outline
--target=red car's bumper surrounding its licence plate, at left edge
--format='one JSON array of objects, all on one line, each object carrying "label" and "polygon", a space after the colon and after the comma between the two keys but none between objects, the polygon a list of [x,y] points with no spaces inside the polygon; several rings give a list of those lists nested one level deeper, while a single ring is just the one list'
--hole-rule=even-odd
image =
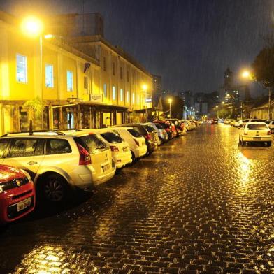
[{"label": "red car's bumper surrounding its licence plate, at left edge", "polygon": [[[31,204],[24,210],[17,211],[17,203],[31,199]],[[22,185],[0,194],[0,224],[13,222],[34,210],[36,196],[33,184]]]}]

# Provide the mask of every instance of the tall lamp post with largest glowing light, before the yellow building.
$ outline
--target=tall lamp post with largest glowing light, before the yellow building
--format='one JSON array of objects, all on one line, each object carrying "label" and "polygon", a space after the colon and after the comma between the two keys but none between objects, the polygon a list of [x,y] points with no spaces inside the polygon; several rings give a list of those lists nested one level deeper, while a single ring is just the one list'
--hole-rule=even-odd
[{"label": "tall lamp post with largest glowing light, before the yellow building", "polygon": [[24,18],[21,24],[21,29],[24,34],[30,37],[39,37],[39,51],[40,51],[40,76],[41,76],[41,85],[40,85],[40,96],[41,96],[41,108],[42,108],[42,129],[44,126],[44,119],[43,119],[43,64],[42,64],[42,50],[43,50],[43,22],[39,20],[37,17],[29,16]]}]

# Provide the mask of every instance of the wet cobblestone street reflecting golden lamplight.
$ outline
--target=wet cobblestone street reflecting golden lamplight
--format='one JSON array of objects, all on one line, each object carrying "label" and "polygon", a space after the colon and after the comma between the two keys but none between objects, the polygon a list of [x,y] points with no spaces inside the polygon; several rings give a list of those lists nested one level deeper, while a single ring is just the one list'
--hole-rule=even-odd
[{"label": "wet cobblestone street reflecting golden lamplight", "polygon": [[0,273],[274,273],[273,152],[204,124],[2,229]]}]

